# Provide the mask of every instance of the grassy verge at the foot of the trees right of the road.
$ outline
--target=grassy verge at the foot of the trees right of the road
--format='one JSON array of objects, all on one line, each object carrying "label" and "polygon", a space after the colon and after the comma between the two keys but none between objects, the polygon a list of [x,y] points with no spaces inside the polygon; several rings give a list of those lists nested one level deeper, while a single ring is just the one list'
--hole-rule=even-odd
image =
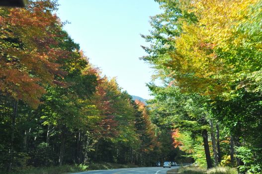
[{"label": "grassy verge at the foot of the trees right of the road", "polygon": [[237,174],[237,170],[234,168],[217,167],[209,170],[201,169],[197,167],[182,167],[180,169],[172,169],[167,174]]}]

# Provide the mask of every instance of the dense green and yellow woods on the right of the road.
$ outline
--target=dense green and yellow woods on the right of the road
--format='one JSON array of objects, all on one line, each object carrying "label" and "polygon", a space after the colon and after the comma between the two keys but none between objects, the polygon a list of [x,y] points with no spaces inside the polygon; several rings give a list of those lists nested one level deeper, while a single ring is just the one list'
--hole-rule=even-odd
[{"label": "dense green and yellow woods on the right of the road", "polygon": [[198,165],[262,173],[262,1],[156,0],[163,12],[142,35],[152,122]]}]

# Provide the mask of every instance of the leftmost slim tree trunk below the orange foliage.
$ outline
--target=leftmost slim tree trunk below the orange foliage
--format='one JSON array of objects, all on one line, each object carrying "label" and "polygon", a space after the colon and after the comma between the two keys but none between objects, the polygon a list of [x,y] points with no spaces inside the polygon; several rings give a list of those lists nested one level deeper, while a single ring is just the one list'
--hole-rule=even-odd
[{"label": "leftmost slim tree trunk below the orange foliage", "polygon": [[8,162],[8,167],[7,171],[11,172],[12,169],[12,163],[13,163],[13,145],[14,145],[14,130],[15,130],[15,119],[17,116],[17,109],[18,109],[18,100],[14,99],[13,101],[13,112],[11,115],[11,137],[10,137],[10,146],[9,146],[9,162]]}]

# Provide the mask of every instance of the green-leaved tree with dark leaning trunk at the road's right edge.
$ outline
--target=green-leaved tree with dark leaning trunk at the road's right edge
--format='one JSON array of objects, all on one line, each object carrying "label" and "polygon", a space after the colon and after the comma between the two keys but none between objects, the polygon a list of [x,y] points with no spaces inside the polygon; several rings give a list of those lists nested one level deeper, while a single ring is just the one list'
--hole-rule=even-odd
[{"label": "green-leaved tree with dark leaning trunk at the road's right edge", "polygon": [[[151,101],[153,122],[162,128],[189,132],[194,140],[197,139],[196,137],[202,137],[206,164],[208,168],[211,168],[207,134],[207,130],[210,128],[207,120],[208,111],[205,107],[206,99],[197,94],[182,94],[177,87],[156,87],[153,85],[149,87],[156,96]],[[182,141],[182,143],[184,142]]]}]

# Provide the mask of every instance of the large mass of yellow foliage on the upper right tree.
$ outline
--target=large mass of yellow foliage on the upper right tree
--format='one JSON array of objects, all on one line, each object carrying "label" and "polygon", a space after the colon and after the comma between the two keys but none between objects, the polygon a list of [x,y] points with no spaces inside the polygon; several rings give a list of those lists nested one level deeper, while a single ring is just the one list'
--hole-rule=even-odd
[{"label": "large mass of yellow foliage on the upper right tree", "polygon": [[[231,63],[229,57],[217,51],[240,54],[232,48],[249,41],[247,34],[238,30],[251,20],[256,3],[259,0],[181,1],[181,8],[193,12],[198,21],[179,19],[183,32],[175,38],[175,51],[170,53],[173,61],[168,66],[175,72],[175,85],[186,91],[216,95],[228,91],[230,82],[242,76],[240,71],[250,71],[250,66],[240,65],[243,61]],[[261,49],[262,45],[254,43],[254,47]]]}]

